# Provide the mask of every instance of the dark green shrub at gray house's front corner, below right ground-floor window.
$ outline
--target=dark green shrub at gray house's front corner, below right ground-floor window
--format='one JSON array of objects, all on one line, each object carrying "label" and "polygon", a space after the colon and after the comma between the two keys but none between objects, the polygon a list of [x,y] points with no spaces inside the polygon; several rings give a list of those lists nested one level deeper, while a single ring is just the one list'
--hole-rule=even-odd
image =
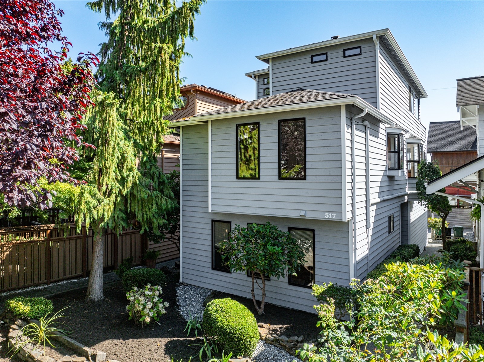
[{"label": "dark green shrub at gray house's front corner, below right ground-floor window", "polygon": [[333,299],[334,306],[338,311],[337,318],[341,319],[348,313],[347,307],[357,303],[356,290],[338,286],[333,283],[323,283],[322,285],[313,284],[313,294],[319,303],[326,303],[328,299]]}]

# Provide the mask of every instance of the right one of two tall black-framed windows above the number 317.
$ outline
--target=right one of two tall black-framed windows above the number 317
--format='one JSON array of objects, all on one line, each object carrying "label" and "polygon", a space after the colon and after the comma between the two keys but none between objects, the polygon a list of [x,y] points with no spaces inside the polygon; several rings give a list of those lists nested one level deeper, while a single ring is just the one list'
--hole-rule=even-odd
[{"label": "right one of two tall black-framed windows above the number 317", "polygon": [[306,180],[306,120],[279,120],[279,180]]}]

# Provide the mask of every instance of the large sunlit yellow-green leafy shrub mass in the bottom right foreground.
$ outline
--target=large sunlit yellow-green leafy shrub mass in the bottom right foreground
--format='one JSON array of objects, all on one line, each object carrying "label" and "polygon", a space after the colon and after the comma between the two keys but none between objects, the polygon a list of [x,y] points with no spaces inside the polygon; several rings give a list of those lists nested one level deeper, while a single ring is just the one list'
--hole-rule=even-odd
[{"label": "large sunlit yellow-green leafy shrub mass in the bottom right foreground", "polygon": [[[348,305],[349,321],[334,317],[335,302],[315,306],[322,347],[305,345],[299,351],[309,362],[460,361],[461,355],[484,352],[481,347],[453,345],[438,332],[465,309],[462,291],[465,272],[439,264],[391,263],[388,271],[364,283],[353,280],[358,311]],[[427,329],[427,331],[425,331]],[[423,349],[427,342],[436,348]],[[450,359],[447,357],[450,356]],[[484,361],[463,359],[463,361]]]}]

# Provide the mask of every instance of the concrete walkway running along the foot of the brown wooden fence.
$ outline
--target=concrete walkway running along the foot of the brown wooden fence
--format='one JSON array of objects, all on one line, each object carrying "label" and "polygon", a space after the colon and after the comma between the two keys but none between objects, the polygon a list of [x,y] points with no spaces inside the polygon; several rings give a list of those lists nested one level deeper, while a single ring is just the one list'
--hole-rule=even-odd
[{"label": "concrete walkway running along the foot of the brown wooden fence", "polygon": [[[166,266],[169,269],[173,269],[175,267],[175,261],[177,260],[179,259],[158,263],[156,264],[156,268],[160,269],[162,266]],[[7,299],[19,296],[52,298],[53,296],[62,293],[70,292],[73,290],[85,289],[88,287],[88,280],[89,278],[68,279],[58,283],[52,283],[50,285],[44,284],[40,286],[15,289],[0,293],[0,311],[3,311],[3,304]],[[114,272],[108,272],[103,274],[103,283],[105,289],[109,287],[114,287],[120,282],[121,279]]]}]

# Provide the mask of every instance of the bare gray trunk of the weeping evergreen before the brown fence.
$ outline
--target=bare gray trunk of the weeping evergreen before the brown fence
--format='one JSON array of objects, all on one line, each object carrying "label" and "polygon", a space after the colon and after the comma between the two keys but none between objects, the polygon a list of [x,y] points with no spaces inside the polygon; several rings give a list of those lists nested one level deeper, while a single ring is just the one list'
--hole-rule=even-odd
[{"label": "bare gray trunk of the weeping evergreen before the brown fence", "polygon": [[101,301],[104,299],[103,290],[103,253],[104,233],[98,226],[94,226],[94,242],[92,244],[91,273],[89,274],[88,291],[86,299]]}]

